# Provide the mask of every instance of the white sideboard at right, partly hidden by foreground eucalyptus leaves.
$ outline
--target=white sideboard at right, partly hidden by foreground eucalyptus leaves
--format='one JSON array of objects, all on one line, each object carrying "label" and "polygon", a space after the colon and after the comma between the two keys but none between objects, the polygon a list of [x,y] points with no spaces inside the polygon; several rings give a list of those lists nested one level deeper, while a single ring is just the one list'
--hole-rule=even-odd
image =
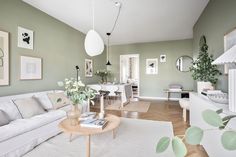
[{"label": "white sideboard at right, partly hidden by foreground eucalyptus leaves", "polygon": [[[214,127],[208,125],[202,119],[202,112],[204,110],[219,110],[223,109],[222,117],[226,115],[232,115],[236,113],[232,113],[228,110],[228,105],[214,103],[209,100],[207,97],[197,94],[190,93],[190,125],[198,126],[202,129],[213,129]],[[232,119],[228,124],[233,129],[236,129],[236,118]],[[228,151],[223,148],[221,145],[221,135],[222,131],[213,130],[206,131],[204,133],[203,140],[201,144],[205,148],[207,154],[210,157],[236,157],[236,151]]]}]

